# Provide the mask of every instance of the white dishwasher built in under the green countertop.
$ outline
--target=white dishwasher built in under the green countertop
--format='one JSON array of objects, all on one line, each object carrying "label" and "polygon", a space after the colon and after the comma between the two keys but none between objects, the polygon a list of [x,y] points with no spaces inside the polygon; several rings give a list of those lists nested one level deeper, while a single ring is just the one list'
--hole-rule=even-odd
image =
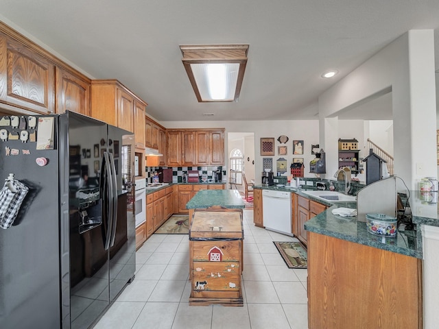
[{"label": "white dishwasher built in under the green countertop", "polygon": [[267,230],[292,236],[291,192],[262,190],[262,215]]}]

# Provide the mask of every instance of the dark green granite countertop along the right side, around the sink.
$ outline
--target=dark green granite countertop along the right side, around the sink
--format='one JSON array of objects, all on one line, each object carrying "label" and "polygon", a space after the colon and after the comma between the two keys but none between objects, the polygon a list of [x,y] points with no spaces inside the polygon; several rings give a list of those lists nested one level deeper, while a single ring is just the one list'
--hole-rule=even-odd
[{"label": "dark green granite countertop along the right side, around the sink", "polygon": [[[368,245],[370,247],[376,247],[379,249],[388,250],[390,252],[396,252],[398,254],[403,254],[406,256],[412,256],[416,258],[423,258],[423,249],[422,249],[422,236],[420,233],[420,227],[417,225],[417,230],[407,230],[405,231],[401,226],[398,230],[398,234],[396,237],[393,238],[385,238],[383,236],[376,236],[374,234],[370,234],[366,230],[366,223],[362,221],[357,221],[357,217],[341,217],[338,215],[333,215],[332,210],[334,208],[357,208],[356,202],[337,202],[335,204],[327,201],[324,202],[322,199],[318,199],[316,197],[313,197],[311,195],[307,195],[305,193],[302,193],[301,191],[304,191],[305,189],[315,189],[307,188],[307,186],[303,186],[304,188],[288,188],[283,186],[254,186],[254,188],[261,188],[261,189],[270,189],[275,191],[291,191],[292,193],[296,193],[298,195],[301,195],[302,197],[307,197],[308,199],[312,199],[316,202],[319,202],[320,204],[324,204],[325,206],[328,206],[329,208],[325,210],[324,212],[320,213],[316,217],[311,218],[309,221],[305,223],[305,230],[308,230],[309,232],[315,232],[319,234],[324,234],[327,236],[333,236],[337,239],[342,239],[346,241],[351,241],[354,243],[359,243],[361,245]],[[416,193],[411,193],[413,197],[416,196]],[[410,197],[410,204],[412,205],[412,202],[414,202],[415,199],[412,199]],[[421,213],[425,212],[430,204],[421,204],[421,206],[418,206],[420,202],[416,202],[414,204],[414,209],[416,212],[414,212],[414,223],[415,218],[417,220],[420,220],[419,210]],[[437,208],[437,204],[435,204]],[[425,208],[427,207],[427,208]],[[413,205],[412,205],[413,208]],[[429,208],[428,208],[429,209]],[[413,209],[412,209],[413,210]],[[416,215],[416,216],[415,216]],[[438,220],[439,217],[437,217],[436,212],[436,219],[429,217],[431,221],[435,221],[436,223],[439,223]],[[439,226],[439,224],[438,224]]]}]

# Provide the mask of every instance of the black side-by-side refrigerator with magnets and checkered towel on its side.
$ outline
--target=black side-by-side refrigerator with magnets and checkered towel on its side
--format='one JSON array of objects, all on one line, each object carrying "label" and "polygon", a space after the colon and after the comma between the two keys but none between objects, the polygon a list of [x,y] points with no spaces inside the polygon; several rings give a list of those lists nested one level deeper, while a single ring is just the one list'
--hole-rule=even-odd
[{"label": "black side-by-side refrigerator with magnets and checkered towel on its side", "polygon": [[134,279],[134,134],[69,111],[0,117],[0,180],[28,188],[0,228],[0,328],[93,326]]}]

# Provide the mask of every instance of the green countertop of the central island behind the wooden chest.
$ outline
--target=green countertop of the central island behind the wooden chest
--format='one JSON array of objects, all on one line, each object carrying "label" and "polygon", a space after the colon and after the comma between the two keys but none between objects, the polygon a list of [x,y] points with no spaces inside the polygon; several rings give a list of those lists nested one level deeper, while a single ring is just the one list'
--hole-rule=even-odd
[{"label": "green countertop of the central island behind the wooden chest", "polygon": [[201,190],[189,200],[186,209],[205,209],[211,206],[245,208],[246,205],[237,190]]}]

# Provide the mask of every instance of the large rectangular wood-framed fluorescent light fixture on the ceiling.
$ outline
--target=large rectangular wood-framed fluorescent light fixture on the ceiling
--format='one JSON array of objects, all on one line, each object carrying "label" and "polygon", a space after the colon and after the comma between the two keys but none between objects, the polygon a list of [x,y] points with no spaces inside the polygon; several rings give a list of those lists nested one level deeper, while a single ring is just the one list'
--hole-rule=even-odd
[{"label": "large rectangular wood-framed fluorescent light fixture on the ceiling", "polygon": [[248,45],[180,45],[180,50],[198,101],[238,101]]}]

